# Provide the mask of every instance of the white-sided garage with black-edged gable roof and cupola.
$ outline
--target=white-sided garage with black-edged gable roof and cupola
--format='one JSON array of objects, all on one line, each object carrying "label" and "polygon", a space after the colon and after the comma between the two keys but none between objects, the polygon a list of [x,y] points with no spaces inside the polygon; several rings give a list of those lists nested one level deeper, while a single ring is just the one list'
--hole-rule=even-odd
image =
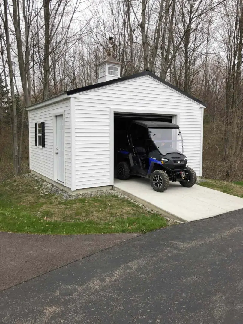
[{"label": "white-sided garage with black-edged gable roof and cupola", "polygon": [[145,119],[180,126],[188,165],[201,176],[205,104],[149,71],[120,77],[112,56],[98,67],[97,84],[27,109],[31,172],[71,191],[112,186],[114,127]]}]

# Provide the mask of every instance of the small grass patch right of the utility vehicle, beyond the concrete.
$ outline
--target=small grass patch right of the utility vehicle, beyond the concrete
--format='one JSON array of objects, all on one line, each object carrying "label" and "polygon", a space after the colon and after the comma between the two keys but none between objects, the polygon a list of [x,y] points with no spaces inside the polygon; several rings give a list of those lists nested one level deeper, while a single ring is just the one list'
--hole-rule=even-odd
[{"label": "small grass patch right of the utility vehicle, beyond the concrete", "polygon": [[200,182],[199,185],[243,198],[243,181],[226,182],[206,179],[206,181]]}]

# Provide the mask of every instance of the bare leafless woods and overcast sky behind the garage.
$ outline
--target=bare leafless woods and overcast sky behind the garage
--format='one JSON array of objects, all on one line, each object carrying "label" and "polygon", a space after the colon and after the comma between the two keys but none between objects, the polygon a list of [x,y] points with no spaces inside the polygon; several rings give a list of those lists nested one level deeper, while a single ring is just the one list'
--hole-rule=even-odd
[{"label": "bare leafless woods and overcast sky behind the garage", "polygon": [[96,83],[111,49],[121,76],[150,70],[204,101],[203,175],[242,180],[242,1],[0,2],[0,179],[28,171],[25,107]]}]

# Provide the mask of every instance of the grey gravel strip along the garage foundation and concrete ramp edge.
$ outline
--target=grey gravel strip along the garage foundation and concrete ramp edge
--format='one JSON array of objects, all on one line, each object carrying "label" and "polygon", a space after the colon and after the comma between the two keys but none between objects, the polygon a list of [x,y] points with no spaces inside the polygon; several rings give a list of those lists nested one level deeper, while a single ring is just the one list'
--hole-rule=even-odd
[{"label": "grey gravel strip along the garage foundation and concrete ramp edge", "polygon": [[[122,195],[121,193],[114,191],[113,189],[97,190],[97,191],[92,191],[92,192],[73,194],[73,193],[69,193],[68,191],[65,191],[64,189],[56,187],[52,183],[42,179],[41,177],[38,177],[34,173],[26,173],[23,176],[26,178],[33,178],[33,179],[37,180],[39,182],[39,185],[41,186],[40,193],[42,193],[42,194],[46,194],[46,195],[47,194],[56,194],[56,195],[61,196],[61,198],[64,200],[73,200],[73,199],[78,199],[78,198],[90,198],[90,197],[102,197],[102,196],[106,196],[106,195],[115,195],[117,197],[129,200],[129,201],[133,202],[135,205],[139,205],[147,212],[156,213],[152,209],[142,205],[141,203],[135,202],[133,199],[131,199],[125,195]],[[180,224],[180,222],[170,219],[164,215],[162,215],[162,216],[167,219],[169,226]]]}]

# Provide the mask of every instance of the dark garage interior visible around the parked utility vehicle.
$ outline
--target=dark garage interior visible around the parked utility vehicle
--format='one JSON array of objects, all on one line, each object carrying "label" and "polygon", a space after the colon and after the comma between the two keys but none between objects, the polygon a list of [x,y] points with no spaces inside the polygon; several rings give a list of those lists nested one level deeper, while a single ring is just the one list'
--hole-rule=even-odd
[{"label": "dark garage interior visible around the parked utility vehicle", "polygon": [[[114,178],[117,178],[117,164],[120,162],[121,149],[125,152],[130,152],[130,139],[127,131],[132,123],[132,121],[166,121],[172,123],[173,116],[169,115],[159,115],[159,114],[145,114],[145,113],[114,113]],[[145,128],[142,127],[141,130],[134,130],[138,134],[139,149],[146,150],[146,138],[144,138],[144,145],[141,145],[141,139],[146,136],[142,134]],[[134,145],[134,144],[133,144]]]}]

